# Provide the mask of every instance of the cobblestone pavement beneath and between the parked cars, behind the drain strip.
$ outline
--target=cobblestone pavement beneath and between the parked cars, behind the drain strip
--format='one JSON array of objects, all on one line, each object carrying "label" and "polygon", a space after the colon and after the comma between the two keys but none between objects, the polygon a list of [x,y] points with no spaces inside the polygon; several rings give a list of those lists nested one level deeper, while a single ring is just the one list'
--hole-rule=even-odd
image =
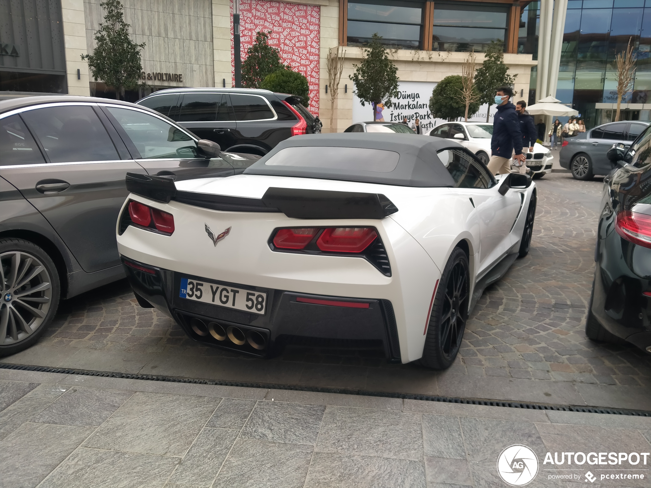
[{"label": "cobblestone pavement beneath and between the parked cars, behind the drain strip", "polygon": [[[376,351],[292,346],[273,360],[243,358],[193,342],[161,312],[140,308],[124,280],[65,301],[36,346],[3,360],[563,403],[581,403],[581,398],[567,393],[562,385],[586,391],[590,388],[581,385],[593,385],[587,394],[591,400],[585,394],[582,397],[592,405],[600,404],[602,386],[613,387],[609,390],[612,398],[622,393],[623,386],[648,392],[648,355],[632,346],[595,344],[583,331],[594,272],[601,180],[578,182],[568,174],[549,174],[537,184],[529,256],[517,260],[501,281],[484,292],[467,322],[458,359],[447,372],[430,372],[415,364],[387,364]],[[92,353],[98,350],[105,355]],[[465,385],[475,385],[475,389]],[[536,393],[527,396],[505,390],[514,385],[535,385],[531,388]],[[651,409],[648,396],[641,403],[637,407]]]}]

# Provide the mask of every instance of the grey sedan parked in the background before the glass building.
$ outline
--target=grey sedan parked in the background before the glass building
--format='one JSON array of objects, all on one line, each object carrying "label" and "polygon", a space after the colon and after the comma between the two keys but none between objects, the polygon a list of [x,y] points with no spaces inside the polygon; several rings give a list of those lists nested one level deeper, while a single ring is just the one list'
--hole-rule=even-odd
[{"label": "grey sedan parked in the background before the glass building", "polygon": [[559,154],[559,163],[565,169],[572,170],[577,180],[590,180],[595,174],[609,174],[615,167],[606,157],[613,143],[630,146],[649,122],[611,122],[589,131],[568,137],[563,142]]}]

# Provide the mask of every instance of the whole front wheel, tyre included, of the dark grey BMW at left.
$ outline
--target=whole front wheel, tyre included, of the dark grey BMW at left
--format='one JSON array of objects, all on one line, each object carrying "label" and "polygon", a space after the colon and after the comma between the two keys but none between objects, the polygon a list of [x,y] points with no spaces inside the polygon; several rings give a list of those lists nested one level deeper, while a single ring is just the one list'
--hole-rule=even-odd
[{"label": "whole front wheel, tyre included, of the dark grey BMW at left", "polygon": [[48,254],[23,239],[0,239],[0,271],[1,357],[38,340],[57,313],[61,284]]}]

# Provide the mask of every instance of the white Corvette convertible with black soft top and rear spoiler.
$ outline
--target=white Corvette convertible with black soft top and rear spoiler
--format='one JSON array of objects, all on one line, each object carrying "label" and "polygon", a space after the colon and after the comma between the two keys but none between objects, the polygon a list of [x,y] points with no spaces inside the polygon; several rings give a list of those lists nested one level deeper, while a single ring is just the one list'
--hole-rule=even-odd
[{"label": "white Corvette convertible with black soft top and rear spoiler", "polygon": [[488,284],[529,252],[536,188],[460,144],[291,137],[227,178],[128,174],[117,241],[141,306],[267,357],[300,342],[447,368]]}]

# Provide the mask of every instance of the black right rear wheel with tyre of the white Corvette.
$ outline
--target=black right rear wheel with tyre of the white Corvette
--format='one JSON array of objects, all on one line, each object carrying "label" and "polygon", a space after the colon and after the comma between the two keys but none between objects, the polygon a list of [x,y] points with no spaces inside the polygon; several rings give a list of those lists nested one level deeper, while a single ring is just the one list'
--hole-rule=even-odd
[{"label": "black right rear wheel with tyre of the white Corvette", "polygon": [[456,247],[443,269],[434,298],[421,364],[445,370],[456,358],[468,318],[468,256]]}]

